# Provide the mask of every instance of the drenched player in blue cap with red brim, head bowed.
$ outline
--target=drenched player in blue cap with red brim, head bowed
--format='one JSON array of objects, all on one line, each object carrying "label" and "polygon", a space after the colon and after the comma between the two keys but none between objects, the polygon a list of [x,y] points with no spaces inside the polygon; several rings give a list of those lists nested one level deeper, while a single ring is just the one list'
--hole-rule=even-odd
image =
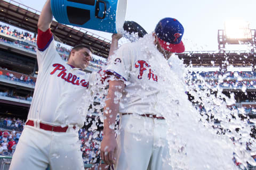
[{"label": "drenched player in blue cap with red brim, head bowed", "polygon": [[[121,46],[111,56],[105,72],[114,80],[109,81],[103,112],[101,158],[115,164],[117,170],[171,169],[166,161],[166,120],[154,107],[162,88],[158,82],[164,82],[158,73],[163,70],[154,65],[159,57],[168,60],[173,53],[184,52],[183,31],[178,20],[164,18],[152,34]],[[121,119],[116,139],[113,127],[117,113]]]}]

